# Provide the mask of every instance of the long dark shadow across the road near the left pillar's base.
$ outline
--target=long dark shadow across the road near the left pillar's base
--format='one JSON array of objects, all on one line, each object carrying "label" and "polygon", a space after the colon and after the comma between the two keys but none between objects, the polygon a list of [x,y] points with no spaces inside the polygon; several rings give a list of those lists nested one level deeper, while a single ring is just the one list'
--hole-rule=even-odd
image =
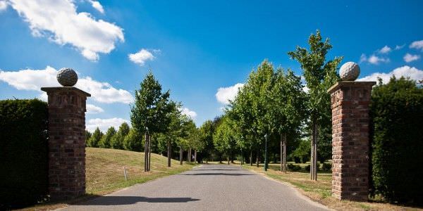
[{"label": "long dark shadow across the road near the left pillar's base", "polygon": [[139,202],[146,203],[188,203],[200,200],[197,198],[175,197],[175,198],[149,198],[143,196],[99,196],[94,200],[86,201],[78,205],[132,205]]}]

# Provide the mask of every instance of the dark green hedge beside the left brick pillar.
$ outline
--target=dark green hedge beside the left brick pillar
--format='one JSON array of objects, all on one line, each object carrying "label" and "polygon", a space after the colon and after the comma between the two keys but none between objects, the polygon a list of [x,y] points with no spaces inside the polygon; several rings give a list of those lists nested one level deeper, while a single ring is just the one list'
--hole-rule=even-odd
[{"label": "dark green hedge beside the left brick pillar", "polygon": [[0,101],[0,210],[42,200],[48,185],[47,103]]}]

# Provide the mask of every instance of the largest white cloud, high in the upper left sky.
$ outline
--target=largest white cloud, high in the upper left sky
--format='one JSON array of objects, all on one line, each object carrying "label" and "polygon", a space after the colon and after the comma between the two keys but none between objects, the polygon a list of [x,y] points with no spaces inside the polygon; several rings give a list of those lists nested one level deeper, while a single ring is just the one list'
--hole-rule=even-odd
[{"label": "largest white cloud, high in the upper left sky", "polygon": [[95,20],[90,13],[77,13],[73,1],[10,0],[10,4],[29,23],[32,35],[75,46],[89,60],[98,60],[98,53],[109,53],[116,41],[124,41],[121,27]]}]

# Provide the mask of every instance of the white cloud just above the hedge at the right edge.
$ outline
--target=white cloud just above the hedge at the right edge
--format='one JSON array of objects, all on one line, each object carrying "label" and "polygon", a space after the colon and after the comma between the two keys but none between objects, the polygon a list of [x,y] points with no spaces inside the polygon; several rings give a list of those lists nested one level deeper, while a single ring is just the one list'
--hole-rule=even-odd
[{"label": "white cloud just above the hedge at the right edge", "polygon": [[389,82],[389,79],[391,79],[393,75],[395,75],[395,77],[397,78],[410,77],[410,79],[413,79],[413,80],[421,80],[423,79],[423,70],[419,70],[415,67],[410,67],[405,65],[403,67],[396,68],[388,73],[374,72],[372,75],[357,79],[357,81],[376,82],[378,77],[380,77],[382,79],[382,82],[386,84]]}]

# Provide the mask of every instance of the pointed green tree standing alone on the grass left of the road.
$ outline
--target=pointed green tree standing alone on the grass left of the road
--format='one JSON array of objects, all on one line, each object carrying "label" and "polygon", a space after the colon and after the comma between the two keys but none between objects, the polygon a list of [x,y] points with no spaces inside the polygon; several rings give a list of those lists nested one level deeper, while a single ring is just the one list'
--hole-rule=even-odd
[{"label": "pointed green tree standing alone on the grass left of the road", "polygon": [[130,120],[138,132],[145,134],[145,171],[150,170],[151,134],[166,132],[171,122],[172,106],[168,103],[170,91],[161,92],[161,85],[149,72],[135,90],[135,103],[131,106]]}]

